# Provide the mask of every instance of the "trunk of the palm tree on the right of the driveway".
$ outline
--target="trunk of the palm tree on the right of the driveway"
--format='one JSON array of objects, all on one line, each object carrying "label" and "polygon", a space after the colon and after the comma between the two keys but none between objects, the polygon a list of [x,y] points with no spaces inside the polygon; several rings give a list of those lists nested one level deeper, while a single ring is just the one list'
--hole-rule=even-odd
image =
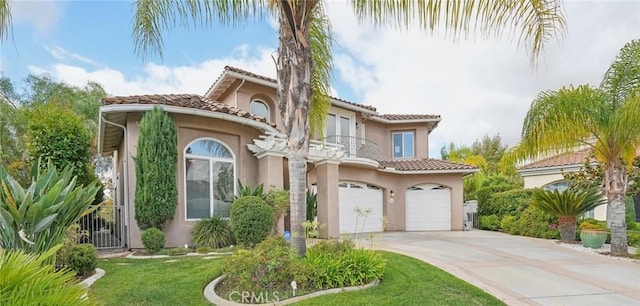
[{"label": "trunk of the palm tree on the right of the driveway", "polygon": [[605,165],[605,189],[607,205],[607,223],[611,229],[611,254],[626,256],[627,222],[625,220],[625,192],[627,189],[627,171],[619,158]]}]

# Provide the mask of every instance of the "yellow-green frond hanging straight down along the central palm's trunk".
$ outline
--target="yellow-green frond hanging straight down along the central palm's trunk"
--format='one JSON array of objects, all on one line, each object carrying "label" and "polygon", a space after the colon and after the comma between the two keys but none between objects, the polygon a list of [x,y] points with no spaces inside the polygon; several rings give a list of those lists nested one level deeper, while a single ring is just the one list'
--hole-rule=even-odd
[{"label": "yellow-green frond hanging straight down along the central palm's trunk", "polygon": [[331,46],[331,24],[324,12],[322,5],[318,4],[313,9],[313,17],[309,28],[309,46],[312,53],[313,75],[311,76],[311,108],[309,111],[309,123],[312,132],[324,135],[324,125],[327,113],[331,108],[330,83],[333,59]]}]

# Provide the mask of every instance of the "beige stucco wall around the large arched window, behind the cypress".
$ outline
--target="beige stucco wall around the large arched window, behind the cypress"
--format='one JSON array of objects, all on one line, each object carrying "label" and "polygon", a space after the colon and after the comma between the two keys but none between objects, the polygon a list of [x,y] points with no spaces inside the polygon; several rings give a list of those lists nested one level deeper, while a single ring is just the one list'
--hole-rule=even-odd
[{"label": "beige stucco wall around the large arched window, behind the cypress", "polygon": [[[140,114],[129,116],[128,143],[130,155],[135,156],[138,139],[137,122]],[[236,177],[243,183],[250,185],[258,183],[258,160],[247,149],[247,144],[260,135],[254,128],[218,119],[211,119],[192,115],[172,114],[178,126],[178,168],[176,178],[178,181],[178,206],[175,217],[165,226],[164,232],[167,239],[167,247],[183,246],[191,244],[190,231],[195,221],[185,220],[185,184],[184,184],[184,149],[192,141],[201,137],[210,137],[219,140],[233,151],[236,158]],[[131,248],[142,248],[140,241],[141,231],[135,222],[135,166],[131,161],[129,167],[129,224]]]}]

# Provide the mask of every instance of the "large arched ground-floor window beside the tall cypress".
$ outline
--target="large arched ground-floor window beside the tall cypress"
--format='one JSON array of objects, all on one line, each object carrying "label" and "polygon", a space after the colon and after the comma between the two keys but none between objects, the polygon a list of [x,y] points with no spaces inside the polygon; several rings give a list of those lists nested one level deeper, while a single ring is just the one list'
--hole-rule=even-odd
[{"label": "large arched ground-floor window beside the tall cypress", "polygon": [[186,219],[228,218],[236,182],[233,152],[218,140],[200,138],[185,148],[184,165]]}]

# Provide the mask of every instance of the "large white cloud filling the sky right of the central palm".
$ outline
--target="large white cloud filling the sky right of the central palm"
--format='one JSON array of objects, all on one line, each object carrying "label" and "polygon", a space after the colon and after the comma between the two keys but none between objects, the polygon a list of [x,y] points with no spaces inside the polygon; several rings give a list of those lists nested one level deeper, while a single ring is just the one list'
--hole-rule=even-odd
[{"label": "large white cloud filling the sky right of the central palm", "polygon": [[566,37],[547,44],[538,69],[510,39],[451,42],[412,29],[359,24],[342,2],[329,2],[336,76],[363,104],[382,113],[442,115],[430,155],[448,142],[471,144],[500,133],[519,140],[531,101],[543,90],[598,85],[624,43],[640,30],[638,2],[565,2]]}]

